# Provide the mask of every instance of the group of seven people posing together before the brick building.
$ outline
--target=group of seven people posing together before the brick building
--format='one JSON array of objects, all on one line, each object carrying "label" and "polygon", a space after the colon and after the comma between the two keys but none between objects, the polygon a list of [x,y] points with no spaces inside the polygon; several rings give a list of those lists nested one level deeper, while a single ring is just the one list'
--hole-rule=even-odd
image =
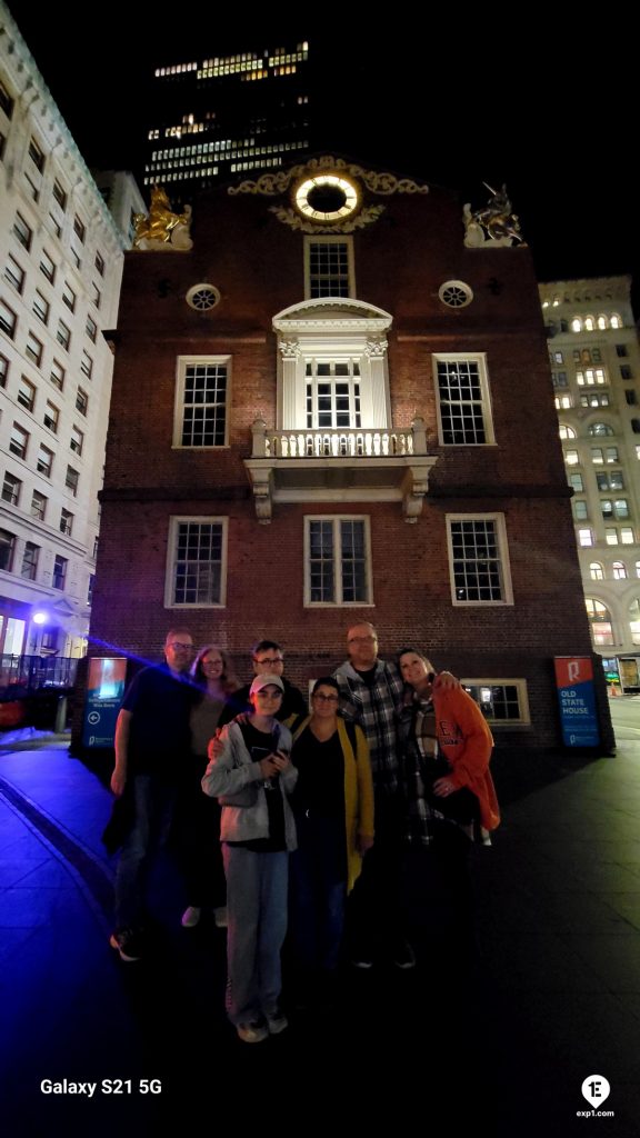
[{"label": "group of seven people posing together before the brick building", "polygon": [[260,1042],[288,1025],[287,929],[303,1000],[331,984],[345,946],[359,968],[415,966],[411,902],[433,865],[468,931],[470,841],[499,823],[493,740],[459,681],[415,649],[380,660],[368,621],[348,629],[348,659],[315,679],[310,706],[274,641],[255,645],[246,687],[222,649],[194,652],[172,629],[165,666],[134,677],[118,716],[112,789],[132,810],[110,942],[124,960],[143,953],[150,858],[175,807],[182,924],[212,908],[228,925],[227,1012]]}]

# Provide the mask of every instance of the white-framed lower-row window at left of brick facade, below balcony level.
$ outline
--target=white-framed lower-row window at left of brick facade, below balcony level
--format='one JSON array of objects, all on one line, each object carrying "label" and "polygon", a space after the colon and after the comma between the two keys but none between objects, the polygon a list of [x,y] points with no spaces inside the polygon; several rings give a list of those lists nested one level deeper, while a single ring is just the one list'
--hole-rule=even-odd
[{"label": "white-framed lower-row window at left of brick facade, below balcony level", "polygon": [[225,531],[221,519],[174,518],[166,604],[224,604]]}]

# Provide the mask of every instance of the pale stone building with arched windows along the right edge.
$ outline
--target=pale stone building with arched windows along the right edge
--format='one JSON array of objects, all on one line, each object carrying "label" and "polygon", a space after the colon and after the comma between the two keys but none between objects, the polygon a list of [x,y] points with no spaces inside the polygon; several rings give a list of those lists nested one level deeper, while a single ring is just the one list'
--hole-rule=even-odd
[{"label": "pale stone building with arched windows along the right edge", "polygon": [[630,277],[540,286],[593,645],[623,691],[640,690],[640,349],[630,292]]}]

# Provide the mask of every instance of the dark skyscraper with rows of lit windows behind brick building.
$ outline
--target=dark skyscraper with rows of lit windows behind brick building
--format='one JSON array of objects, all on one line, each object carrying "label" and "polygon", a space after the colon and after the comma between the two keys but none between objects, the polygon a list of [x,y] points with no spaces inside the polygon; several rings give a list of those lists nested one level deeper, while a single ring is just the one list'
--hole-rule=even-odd
[{"label": "dark skyscraper with rows of lit windows behind brick building", "polygon": [[241,51],[157,67],[145,185],[173,199],[309,149],[309,44]]}]

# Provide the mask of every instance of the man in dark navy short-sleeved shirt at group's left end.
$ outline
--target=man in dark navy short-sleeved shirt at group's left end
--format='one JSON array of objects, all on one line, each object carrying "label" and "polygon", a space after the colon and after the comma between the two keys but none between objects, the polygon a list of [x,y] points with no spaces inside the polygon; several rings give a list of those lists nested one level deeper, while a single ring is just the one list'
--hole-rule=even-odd
[{"label": "man in dark navy short-sleeved shirt at group's left end", "polygon": [[171,628],[164,645],[166,662],[142,668],[134,676],[117,717],[112,790],[116,798],[126,794],[132,820],[116,871],[116,927],[110,945],[126,962],[138,960],[143,951],[151,855],[167,834],[180,767],[190,752],[192,652],[191,633]]}]

